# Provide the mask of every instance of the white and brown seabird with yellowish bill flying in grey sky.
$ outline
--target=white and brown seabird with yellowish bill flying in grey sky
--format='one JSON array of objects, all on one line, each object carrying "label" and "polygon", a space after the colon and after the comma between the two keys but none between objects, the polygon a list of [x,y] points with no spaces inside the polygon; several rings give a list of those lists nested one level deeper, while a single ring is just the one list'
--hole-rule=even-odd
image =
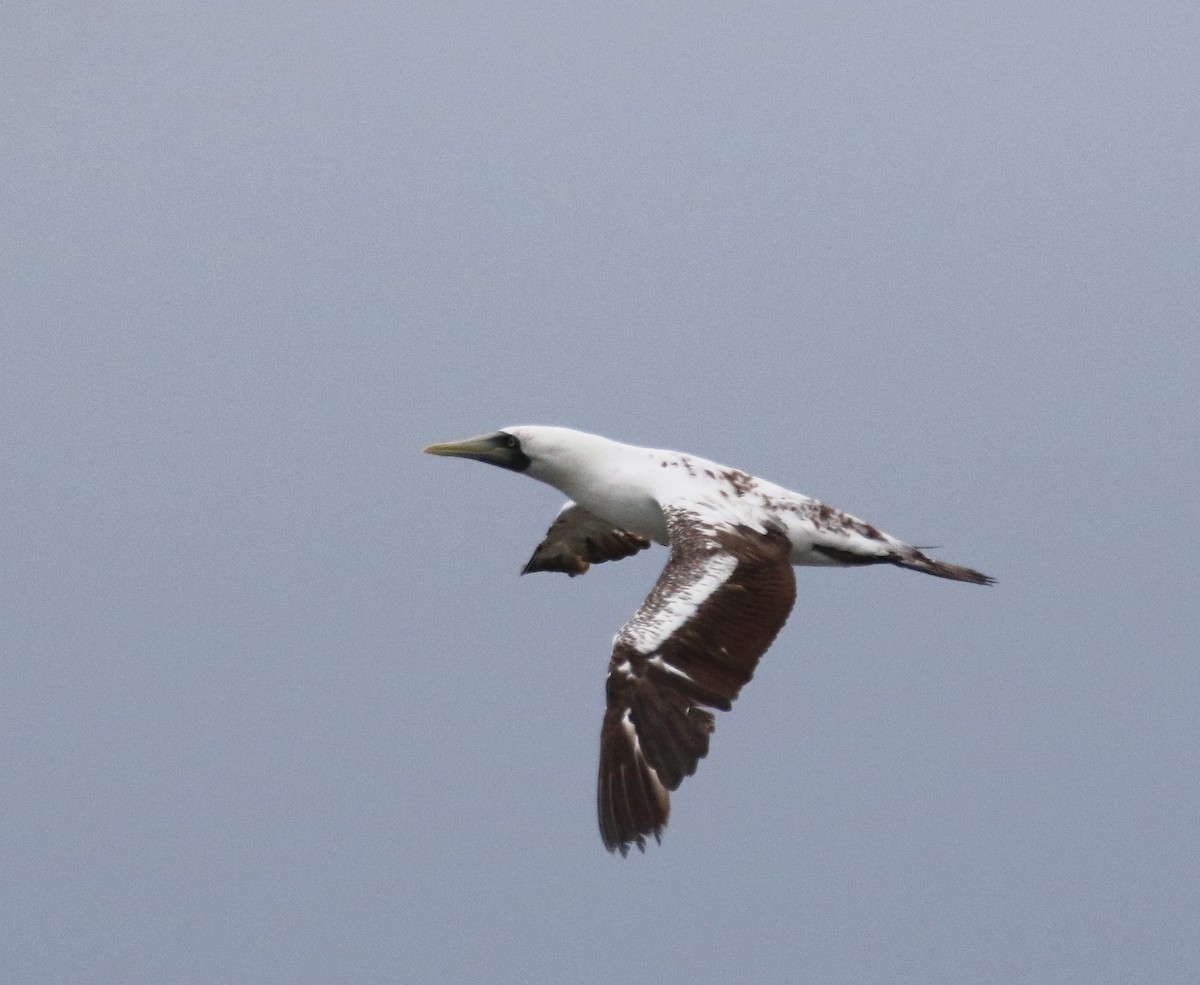
[{"label": "white and brown seabird with yellowish bill flying in grey sky", "polygon": [[992,578],[935,560],[858,517],[694,455],[565,427],[505,427],[430,455],[523,473],[570,497],[521,573],[670,548],[649,596],[613,639],[596,807],[610,852],[662,840],[670,791],[708,753],[710,709],[728,711],[796,601],[792,565],[890,564]]}]

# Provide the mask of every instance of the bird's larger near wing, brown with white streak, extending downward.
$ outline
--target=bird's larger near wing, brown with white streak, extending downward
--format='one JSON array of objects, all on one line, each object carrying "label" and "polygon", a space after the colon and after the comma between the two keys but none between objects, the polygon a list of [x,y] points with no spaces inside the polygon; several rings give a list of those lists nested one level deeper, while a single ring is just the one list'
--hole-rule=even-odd
[{"label": "bird's larger near wing, brown with white streak, extending downward", "polygon": [[600,729],[600,836],[623,855],[650,835],[661,841],[668,791],[708,753],[707,709],[732,707],[796,601],[781,530],[664,512],[671,557],[613,642]]}]

